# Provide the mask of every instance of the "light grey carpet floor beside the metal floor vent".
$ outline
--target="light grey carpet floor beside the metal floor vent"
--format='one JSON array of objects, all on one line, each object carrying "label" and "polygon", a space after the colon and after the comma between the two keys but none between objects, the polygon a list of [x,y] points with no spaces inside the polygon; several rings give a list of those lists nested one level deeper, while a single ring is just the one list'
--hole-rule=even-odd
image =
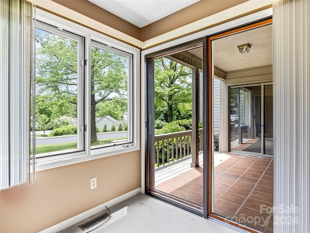
[{"label": "light grey carpet floor beside the metal floor vent", "polygon": [[[221,224],[143,194],[109,209],[112,213],[110,221],[92,233],[236,233]],[[59,233],[84,233],[78,226],[89,219]]]}]

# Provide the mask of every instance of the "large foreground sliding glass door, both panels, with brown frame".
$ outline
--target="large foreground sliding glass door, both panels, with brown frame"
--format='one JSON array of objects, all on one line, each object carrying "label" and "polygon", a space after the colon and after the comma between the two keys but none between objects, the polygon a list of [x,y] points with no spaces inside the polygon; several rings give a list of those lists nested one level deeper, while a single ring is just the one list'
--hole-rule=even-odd
[{"label": "large foreground sliding glass door, both panels, with brown frame", "polygon": [[148,195],[272,231],[271,22],[145,55]]}]

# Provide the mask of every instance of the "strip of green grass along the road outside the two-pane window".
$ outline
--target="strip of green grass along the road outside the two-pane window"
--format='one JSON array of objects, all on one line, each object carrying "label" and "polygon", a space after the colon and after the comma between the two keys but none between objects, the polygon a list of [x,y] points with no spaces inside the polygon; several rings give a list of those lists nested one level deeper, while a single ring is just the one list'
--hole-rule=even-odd
[{"label": "strip of green grass along the road outside the two-pane window", "polygon": [[[125,137],[124,137],[125,138]],[[124,139],[124,138],[117,138],[117,139]],[[99,139],[98,142],[92,143],[91,146],[98,146],[98,145],[105,145],[109,144],[110,141],[115,139]],[[70,150],[70,149],[77,149],[78,143],[77,142],[64,142],[64,143],[55,143],[55,144],[47,144],[47,145],[38,145],[35,147],[36,154],[42,153],[49,153],[61,150]],[[31,147],[31,154],[32,154],[32,147]]]}]

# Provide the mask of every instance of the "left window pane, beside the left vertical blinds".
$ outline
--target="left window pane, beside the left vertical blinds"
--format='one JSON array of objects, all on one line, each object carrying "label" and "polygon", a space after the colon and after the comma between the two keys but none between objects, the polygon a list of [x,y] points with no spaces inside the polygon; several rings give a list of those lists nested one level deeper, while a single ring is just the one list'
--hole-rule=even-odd
[{"label": "left window pane, beside the left vertical blinds", "polygon": [[76,40],[36,28],[35,149],[39,156],[83,148],[79,46]]}]

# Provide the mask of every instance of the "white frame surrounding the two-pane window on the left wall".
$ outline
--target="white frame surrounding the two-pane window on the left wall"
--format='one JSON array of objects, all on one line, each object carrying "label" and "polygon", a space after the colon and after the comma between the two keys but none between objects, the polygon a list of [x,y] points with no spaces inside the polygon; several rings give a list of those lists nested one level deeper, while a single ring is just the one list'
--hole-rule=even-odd
[{"label": "white frame surrounding the two-pane window on the left wall", "polygon": [[[128,89],[132,90],[131,99],[129,100],[128,95],[128,110],[131,109],[132,114],[131,118],[129,117],[128,111],[128,130],[132,132],[132,138],[129,138],[128,134],[128,143],[122,145],[116,145],[106,148],[99,148],[91,150],[90,143],[90,125],[91,125],[91,66],[87,64],[85,68],[85,76],[84,76],[84,88],[85,88],[85,116],[84,122],[87,125],[87,131],[85,132],[85,141],[84,141],[84,151],[73,152],[68,154],[60,154],[54,155],[45,158],[37,158],[36,159],[36,171],[55,168],[59,166],[66,166],[75,163],[85,162],[93,159],[108,157],[112,155],[117,155],[121,153],[126,153],[130,151],[140,150],[140,49],[133,47],[124,42],[118,41],[114,38],[111,38],[107,35],[97,33],[91,29],[80,26],[74,22],[66,20],[61,17],[57,17],[46,11],[41,9],[36,9],[36,19],[42,21],[44,23],[50,24],[52,26],[58,27],[65,31],[78,34],[85,38],[85,55],[84,59],[87,61],[91,61],[91,44],[92,40],[100,42],[102,44],[107,45],[110,48],[124,51],[132,55],[132,64],[129,63],[129,66],[132,70],[130,73],[132,74],[132,78],[128,80]],[[131,87],[129,87],[131,85]],[[129,93],[128,93],[129,94]],[[132,126],[129,125],[129,120],[132,122]],[[131,139],[131,140],[129,140]]]}]

